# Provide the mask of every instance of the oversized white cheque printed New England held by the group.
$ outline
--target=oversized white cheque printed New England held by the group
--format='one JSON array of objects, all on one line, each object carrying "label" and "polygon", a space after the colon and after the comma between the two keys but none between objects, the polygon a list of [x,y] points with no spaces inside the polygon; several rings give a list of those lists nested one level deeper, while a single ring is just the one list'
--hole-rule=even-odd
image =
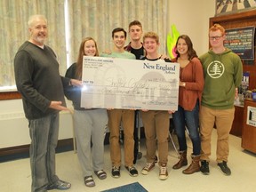
[{"label": "oversized white cheque printed New England held by the group", "polygon": [[177,110],[179,76],[179,63],[84,56],[81,107]]}]

